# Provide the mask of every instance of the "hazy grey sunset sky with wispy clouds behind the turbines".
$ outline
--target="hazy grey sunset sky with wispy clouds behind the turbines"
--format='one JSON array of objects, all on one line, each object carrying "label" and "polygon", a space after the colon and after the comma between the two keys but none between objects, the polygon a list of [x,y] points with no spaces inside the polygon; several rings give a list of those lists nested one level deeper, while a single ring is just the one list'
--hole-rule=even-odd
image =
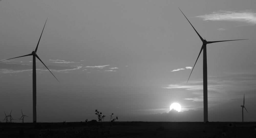
[{"label": "hazy grey sunset sky with wispy clouds behind the turbines", "polygon": [[[37,122],[97,119],[203,121],[202,42],[207,41],[208,120],[256,121],[256,1],[0,1],[0,60],[35,50]],[[188,83],[187,83],[188,80]],[[32,122],[32,56],[0,62],[0,120]],[[182,110],[171,110],[177,102]],[[2,121],[3,122],[3,121]],[[22,122],[22,120],[14,120]]]}]

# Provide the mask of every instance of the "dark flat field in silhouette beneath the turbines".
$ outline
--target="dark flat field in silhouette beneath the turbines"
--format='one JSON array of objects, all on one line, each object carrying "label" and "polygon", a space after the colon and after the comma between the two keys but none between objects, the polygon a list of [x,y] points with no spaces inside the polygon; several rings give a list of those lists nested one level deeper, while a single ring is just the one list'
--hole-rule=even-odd
[{"label": "dark flat field in silhouette beneath the turbines", "polygon": [[0,137],[256,137],[256,122],[0,123]]}]

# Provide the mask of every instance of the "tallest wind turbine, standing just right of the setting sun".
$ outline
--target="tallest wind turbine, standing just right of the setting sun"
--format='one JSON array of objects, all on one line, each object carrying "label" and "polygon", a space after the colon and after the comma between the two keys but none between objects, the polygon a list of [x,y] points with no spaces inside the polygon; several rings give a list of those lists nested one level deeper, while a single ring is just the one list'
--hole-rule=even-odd
[{"label": "tallest wind turbine, standing just right of the setting sun", "polygon": [[[179,8],[180,10],[180,8]],[[180,10],[181,11],[181,10]],[[182,11],[181,11],[182,12]],[[182,12],[182,14],[184,15],[184,13]],[[185,16],[185,15],[184,15]],[[186,17],[186,16],[185,16]],[[188,18],[186,17],[186,19],[188,20]],[[194,26],[190,23],[190,21],[188,20],[189,24],[194,28]],[[196,29],[194,28],[194,30],[196,31]],[[201,41],[203,42],[203,45],[201,47],[201,50],[199,52],[198,57],[200,56],[202,50],[204,50],[203,52],[203,89],[204,89],[204,123],[208,122],[208,102],[207,102],[207,56],[206,56],[206,44],[210,44],[210,43],[216,43],[216,42],[224,42],[224,41],[236,41],[236,40],[224,40],[224,41],[206,41],[205,39],[203,39],[199,33],[196,31],[197,35],[199,36],[199,38],[201,39]],[[247,39],[238,39],[238,40],[247,40]],[[198,60],[198,57],[196,59],[196,62]],[[196,62],[194,64],[194,67],[196,65]],[[194,67],[192,68],[192,71],[194,69]],[[192,73],[191,71],[191,73]],[[190,73],[190,75],[191,75]],[[188,80],[190,78],[190,75],[188,77]],[[188,83],[188,81],[187,81]]]}]

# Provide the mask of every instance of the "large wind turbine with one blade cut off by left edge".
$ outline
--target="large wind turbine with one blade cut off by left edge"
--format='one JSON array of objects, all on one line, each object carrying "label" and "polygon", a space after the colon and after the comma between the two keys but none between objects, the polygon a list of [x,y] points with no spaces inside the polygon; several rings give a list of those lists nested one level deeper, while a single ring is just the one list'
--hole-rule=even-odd
[{"label": "large wind turbine with one blade cut off by left edge", "polygon": [[[47,19],[46,19],[47,21]],[[45,21],[45,24],[46,24],[46,21]],[[45,25],[44,25],[44,28],[45,28]],[[42,30],[42,33],[44,31],[44,28]],[[42,36],[42,33],[41,33],[41,36]],[[41,36],[38,40],[38,43],[37,43],[37,46],[36,46],[36,49],[35,51],[32,51],[31,54],[27,54],[27,55],[23,55],[23,56],[30,56],[30,55],[33,55],[33,122],[36,123],[36,57],[37,59],[39,59],[41,61],[41,59],[39,58],[39,56],[36,54],[37,52],[37,48],[38,48],[38,44],[39,44],[39,41],[41,39]],[[18,57],[23,57],[23,56],[18,56]],[[11,59],[15,59],[15,58],[18,58],[18,57],[14,57],[14,58],[11,58]],[[10,59],[7,59],[7,60],[10,60]],[[5,61],[5,60],[2,60],[2,61]],[[1,61],[0,61],[1,62]],[[42,61],[41,61],[42,62]],[[42,62],[44,64],[44,62]],[[44,64],[45,65],[45,64]],[[45,67],[49,70],[49,68],[45,65]],[[50,70],[49,70],[50,71]],[[51,71],[50,71],[51,73]],[[52,73],[51,73],[52,74]],[[53,74],[52,74],[53,75]],[[54,75],[53,75],[54,76]],[[55,77],[55,76],[54,76]],[[55,77],[56,78],[56,77]],[[57,79],[57,78],[56,78]],[[58,80],[58,79],[57,79]],[[59,80],[58,80],[59,82]]]}]

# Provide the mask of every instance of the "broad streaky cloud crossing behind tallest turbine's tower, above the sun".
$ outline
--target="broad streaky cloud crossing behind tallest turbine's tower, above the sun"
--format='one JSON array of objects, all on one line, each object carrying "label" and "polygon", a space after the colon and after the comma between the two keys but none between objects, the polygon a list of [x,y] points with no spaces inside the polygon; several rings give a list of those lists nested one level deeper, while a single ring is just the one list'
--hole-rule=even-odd
[{"label": "broad streaky cloud crossing behind tallest turbine's tower, above the sun", "polygon": [[[245,93],[248,97],[255,98],[255,73],[225,73],[221,76],[208,76],[208,103],[216,105],[222,102],[228,102],[232,99],[241,98]],[[185,93],[185,100],[200,102],[203,97],[203,81],[189,80],[179,84],[170,84],[162,88],[170,91],[179,91]],[[232,98],[230,97],[232,95]]]}]

